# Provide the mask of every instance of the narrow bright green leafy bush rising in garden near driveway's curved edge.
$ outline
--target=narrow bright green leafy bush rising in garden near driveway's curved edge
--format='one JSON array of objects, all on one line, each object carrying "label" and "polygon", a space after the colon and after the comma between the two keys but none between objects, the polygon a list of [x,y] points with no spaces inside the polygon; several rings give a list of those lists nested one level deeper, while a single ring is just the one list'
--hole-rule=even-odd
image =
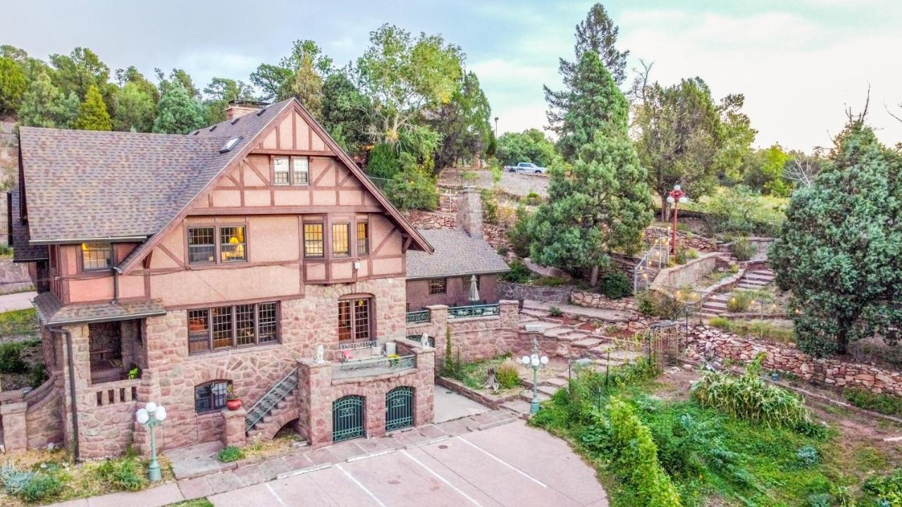
[{"label": "narrow bright green leafy bush rising in garden near driveway's curved edge", "polygon": [[670,477],[658,464],[658,447],[635,410],[617,398],[611,401],[612,471],[634,488],[642,505],[682,505]]}]

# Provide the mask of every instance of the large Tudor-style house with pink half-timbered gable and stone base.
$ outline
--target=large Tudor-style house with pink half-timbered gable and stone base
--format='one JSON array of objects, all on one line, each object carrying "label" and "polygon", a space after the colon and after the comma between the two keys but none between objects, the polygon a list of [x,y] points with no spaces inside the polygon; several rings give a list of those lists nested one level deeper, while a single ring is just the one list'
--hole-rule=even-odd
[{"label": "large Tudor-style house with pink half-timbered gable and stone base", "polygon": [[431,245],[298,101],[228,118],[20,129],[14,252],[33,263],[51,373],[22,409],[28,447],[146,447],[147,401],[169,414],[162,448],[431,421],[433,353],[405,338],[406,254]]}]

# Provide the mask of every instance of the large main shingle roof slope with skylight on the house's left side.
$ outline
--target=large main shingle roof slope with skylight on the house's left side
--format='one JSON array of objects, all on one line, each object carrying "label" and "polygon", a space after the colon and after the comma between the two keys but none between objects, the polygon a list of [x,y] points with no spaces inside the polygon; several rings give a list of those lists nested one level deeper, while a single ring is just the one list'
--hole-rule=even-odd
[{"label": "large main shingle roof slope with skylight on the house's left side", "polygon": [[290,102],[188,135],[21,127],[32,241],[156,234]]}]

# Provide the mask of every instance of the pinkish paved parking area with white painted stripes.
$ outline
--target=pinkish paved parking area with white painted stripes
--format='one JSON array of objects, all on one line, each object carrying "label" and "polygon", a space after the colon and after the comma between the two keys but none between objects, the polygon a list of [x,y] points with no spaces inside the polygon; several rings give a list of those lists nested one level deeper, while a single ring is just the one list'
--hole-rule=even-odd
[{"label": "pinkish paved parking area with white painted stripes", "polygon": [[605,507],[594,470],[522,421],[209,497],[216,507]]}]

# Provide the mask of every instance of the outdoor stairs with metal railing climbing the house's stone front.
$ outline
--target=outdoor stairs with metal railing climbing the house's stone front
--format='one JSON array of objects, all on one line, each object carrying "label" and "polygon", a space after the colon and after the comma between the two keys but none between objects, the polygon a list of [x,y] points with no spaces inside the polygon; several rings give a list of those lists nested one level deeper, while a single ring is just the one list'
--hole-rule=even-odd
[{"label": "outdoor stairs with metal railing climbing the house's stone front", "polygon": [[291,370],[247,410],[244,429],[248,437],[270,440],[291,420],[298,419],[298,368]]}]

